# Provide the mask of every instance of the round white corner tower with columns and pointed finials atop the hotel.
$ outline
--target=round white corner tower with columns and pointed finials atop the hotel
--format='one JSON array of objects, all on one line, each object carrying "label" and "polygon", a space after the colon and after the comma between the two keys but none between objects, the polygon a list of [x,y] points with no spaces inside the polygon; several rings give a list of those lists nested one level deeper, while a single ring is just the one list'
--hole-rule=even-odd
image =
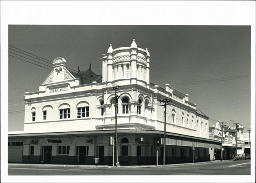
[{"label": "round white corner tower with columns and pointed finials atop the hotel", "polygon": [[150,54],[138,48],[133,39],[130,47],[120,47],[102,55],[102,80],[116,85],[139,84],[149,88]]}]

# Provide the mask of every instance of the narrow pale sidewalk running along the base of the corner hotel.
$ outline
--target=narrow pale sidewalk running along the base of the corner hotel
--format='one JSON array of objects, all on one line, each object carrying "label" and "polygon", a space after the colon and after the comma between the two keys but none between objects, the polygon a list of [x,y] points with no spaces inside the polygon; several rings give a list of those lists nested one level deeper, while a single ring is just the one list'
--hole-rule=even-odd
[{"label": "narrow pale sidewalk running along the base of the corner hotel", "polygon": [[[223,161],[234,161],[231,160],[223,160]],[[206,163],[215,163],[220,162],[220,160],[214,161],[205,161],[198,163],[180,163],[180,164],[170,164],[170,165],[130,165],[130,166],[120,166],[120,167],[112,167],[108,165],[60,165],[60,164],[27,164],[27,163],[8,163],[8,166],[33,166],[33,167],[74,167],[74,168],[156,168],[156,167],[170,167],[170,166],[180,166],[180,165],[192,165],[192,164],[206,164]]]}]

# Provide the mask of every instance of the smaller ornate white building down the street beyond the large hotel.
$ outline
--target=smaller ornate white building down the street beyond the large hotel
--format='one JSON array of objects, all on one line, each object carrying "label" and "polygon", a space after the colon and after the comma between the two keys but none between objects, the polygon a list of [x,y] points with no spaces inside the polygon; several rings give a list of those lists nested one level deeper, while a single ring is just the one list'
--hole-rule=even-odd
[{"label": "smaller ornate white building down the street beyond the large hotel", "polygon": [[[238,125],[237,127],[237,154],[244,153],[244,141],[243,141],[243,126]],[[223,159],[233,159],[236,155],[236,128],[232,129],[230,126],[224,126],[223,136],[221,136],[222,130],[220,123],[209,127],[210,139],[221,141],[223,147]],[[215,158],[220,159],[220,149],[214,151]]]}]

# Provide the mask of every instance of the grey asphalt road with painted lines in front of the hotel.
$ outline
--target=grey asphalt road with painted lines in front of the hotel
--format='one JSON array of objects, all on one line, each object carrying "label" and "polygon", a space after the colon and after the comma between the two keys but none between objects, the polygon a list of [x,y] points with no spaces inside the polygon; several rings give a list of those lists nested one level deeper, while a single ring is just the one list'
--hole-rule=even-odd
[{"label": "grey asphalt road with painted lines in front of the hotel", "polygon": [[250,160],[145,168],[50,167],[9,165],[8,175],[250,175]]}]

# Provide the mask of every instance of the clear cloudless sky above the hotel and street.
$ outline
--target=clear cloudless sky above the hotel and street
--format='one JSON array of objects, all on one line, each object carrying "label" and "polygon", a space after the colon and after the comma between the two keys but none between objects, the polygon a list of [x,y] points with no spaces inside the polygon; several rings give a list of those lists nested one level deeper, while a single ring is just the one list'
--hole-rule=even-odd
[{"label": "clear cloudless sky above the hotel and street", "polygon": [[[19,57],[15,54],[22,54],[14,51],[18,48],[50,61],[62,57],[68,68],[80,66],[81,71],[91,63],[92,71],[102,74],[100,58],[109,44],[113,49],[130,46],[132,39],[150,52],[151,83],[162,88],[168,83],[188,93],[189,101],[210,117],[210,125],[220,120],[233,126],[233,119],[245,131],[250,128],[250,26],[9,25],[8,54]],[[19,131],[24,125],[24,93],[38,91],[50,70],[12,56],[8,131]]]}]

